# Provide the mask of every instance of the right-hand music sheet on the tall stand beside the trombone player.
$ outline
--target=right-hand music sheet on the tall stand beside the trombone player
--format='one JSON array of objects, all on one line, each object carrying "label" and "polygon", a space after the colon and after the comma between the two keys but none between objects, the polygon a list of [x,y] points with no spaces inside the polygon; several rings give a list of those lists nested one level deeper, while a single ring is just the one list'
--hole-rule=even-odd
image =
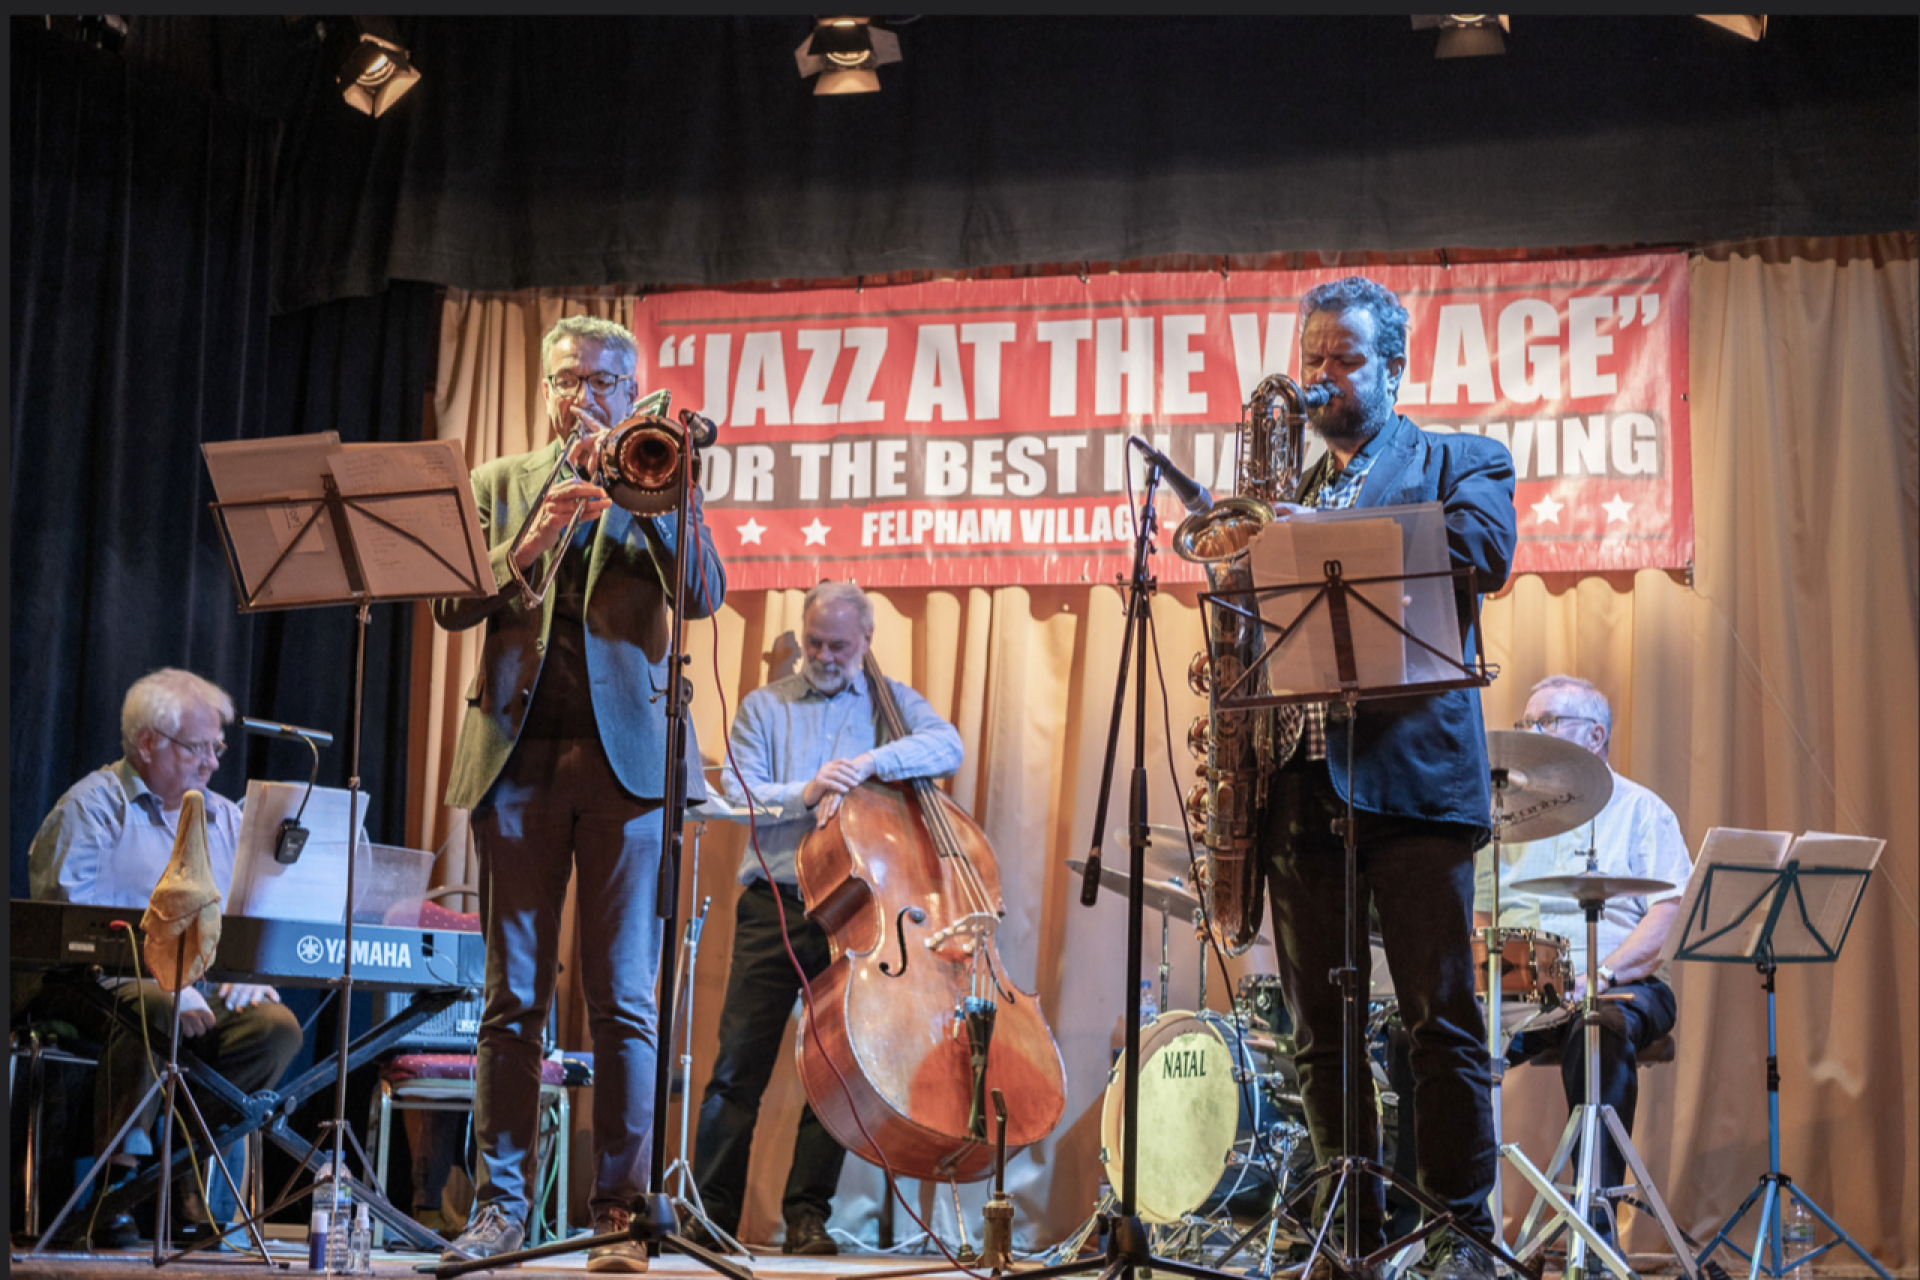
[{"label": "right-hand music sheet on the tall stand beside the trombone player", "polygon": [[374,599],[492,595],[467,462],[451,439],[348,445],[326,461],[349,499],[348,526]]}]

